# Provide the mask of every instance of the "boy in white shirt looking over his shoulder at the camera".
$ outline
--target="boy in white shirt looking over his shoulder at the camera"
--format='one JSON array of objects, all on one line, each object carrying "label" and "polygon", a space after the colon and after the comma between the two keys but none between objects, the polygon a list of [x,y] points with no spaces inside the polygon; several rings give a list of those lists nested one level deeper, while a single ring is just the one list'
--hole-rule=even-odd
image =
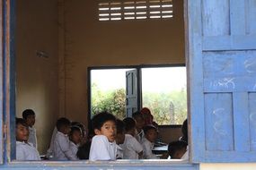
[{"label": "boy in white shirt looking over his shoulder at the camera", "polygon": [[116,117],[102,112],[93,116],[92,126],[96,135],[93,136],[89,160],[116,160]]}]

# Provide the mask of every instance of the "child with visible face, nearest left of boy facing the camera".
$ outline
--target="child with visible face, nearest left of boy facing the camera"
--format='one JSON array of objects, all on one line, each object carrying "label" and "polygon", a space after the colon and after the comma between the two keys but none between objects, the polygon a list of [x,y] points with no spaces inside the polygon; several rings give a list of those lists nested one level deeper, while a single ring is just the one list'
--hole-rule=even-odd
[{"label": "child with visible face, nearest left of boy facing the camera", "polygon": [[[82,140],[82,131],[81,131],[80,127],[78,127],[78,126],[71,127],[71,131],[69,133],[69,140],[70,140],[69,147],[70,147],[73,155],[75,155],[75,157],[76,157],[78,147]],[[77,157],[77,159],[78,159],[78,157]]]}]

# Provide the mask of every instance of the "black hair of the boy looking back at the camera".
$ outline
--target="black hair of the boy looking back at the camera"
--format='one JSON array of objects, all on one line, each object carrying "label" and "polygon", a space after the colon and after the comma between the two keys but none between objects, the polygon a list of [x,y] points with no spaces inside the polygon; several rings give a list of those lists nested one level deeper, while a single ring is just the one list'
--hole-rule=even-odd
[{"label": "black hair of the boy looking back at the camera", "polygon": [[92,119],[93,130],[95,130],[95,129],[101,130],[102,125],[104,123],[106,123],[107,121],[113,121],[114,123],[116,123],[116,120],[117,119],[116,119],[115,115],[111,115],[108,112],[101,112],[97,115],[94,115],[93,119]]}]

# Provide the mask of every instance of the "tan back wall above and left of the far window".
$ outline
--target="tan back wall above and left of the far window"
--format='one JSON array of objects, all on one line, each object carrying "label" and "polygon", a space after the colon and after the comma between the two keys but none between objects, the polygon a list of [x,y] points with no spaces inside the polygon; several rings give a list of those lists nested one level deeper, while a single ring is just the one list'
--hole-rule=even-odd
[{"label": "tan back wall above and left of the far window", "polygon": [[172,20],[97,20],[98,1],[66,1],[66,116],[86,122],[87,67],[184,64],[183,4]]}]

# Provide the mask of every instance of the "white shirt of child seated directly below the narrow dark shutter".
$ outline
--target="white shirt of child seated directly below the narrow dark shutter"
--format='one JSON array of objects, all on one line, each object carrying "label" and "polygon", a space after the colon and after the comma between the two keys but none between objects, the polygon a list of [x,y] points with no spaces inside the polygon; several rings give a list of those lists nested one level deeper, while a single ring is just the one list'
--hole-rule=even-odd
[{"label": "white shirt of child seated directly below the narrow dark shutter", "polygon": [[141,144],[130,134],[125,135],[125,141],[120,147],[124,150],[124,159],[138,159],[138,153],[143,151]]}]

